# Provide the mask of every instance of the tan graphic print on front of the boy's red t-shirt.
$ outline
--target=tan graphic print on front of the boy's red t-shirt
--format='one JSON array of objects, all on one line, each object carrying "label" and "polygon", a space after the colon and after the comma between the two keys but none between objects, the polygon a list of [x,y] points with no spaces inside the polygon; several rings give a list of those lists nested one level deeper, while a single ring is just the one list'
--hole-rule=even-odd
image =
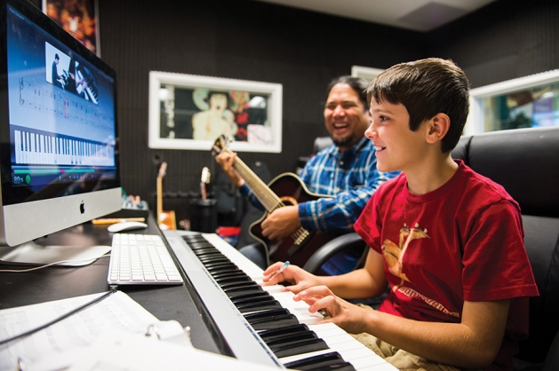
[{"label": "tan graphic print on front of the boy's red t-shirt", "polygon": [[403,256],[406,249],[410,247],[410,242],[417,239],[430,238],[427,235],[427,228],[421,229],[419,223],[416,223],[413,228],[410,228],[405,223],[403,227],[400,228],[400,237],[398,244],[396,245],[393,241],[385,240],[382,242],[382,255],[384,256],[388,271],[394,274],[396,277],[402,279],[399,285],[392,288],[393,291],[399,291],[405,296],[419,297],[425,303],[433,306],[437,310],[449,314],[453,317],[459,317],[459,313],[448,311],[443,304],[438,303],[436,300],[430,299],[426,296],[421,295],[419,292],[413,288],[403,287],[403,281],[411,282],[408,277],[403,272]]}]

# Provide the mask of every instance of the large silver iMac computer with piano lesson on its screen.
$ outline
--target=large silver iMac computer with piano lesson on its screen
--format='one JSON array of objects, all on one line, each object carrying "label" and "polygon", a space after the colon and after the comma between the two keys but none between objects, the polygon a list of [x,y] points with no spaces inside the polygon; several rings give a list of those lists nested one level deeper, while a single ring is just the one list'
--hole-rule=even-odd
[{"label": "large silver iMac computer with piano lesson on its screen", "polygon": [[121,209],[116,74],[28,0],[0,28],[0,263],[50,263],[34,240]]}]

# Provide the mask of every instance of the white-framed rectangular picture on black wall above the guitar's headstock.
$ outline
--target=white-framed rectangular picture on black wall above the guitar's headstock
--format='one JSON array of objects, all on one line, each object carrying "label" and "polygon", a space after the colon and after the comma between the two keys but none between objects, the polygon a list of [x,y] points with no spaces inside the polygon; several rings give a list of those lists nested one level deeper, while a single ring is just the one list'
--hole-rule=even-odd
[{"label": "white-framed rectangular picture on black wall above the guitar's headstock", "polygon": [[282,85],[149,72],[149,147],[282,152]]}]

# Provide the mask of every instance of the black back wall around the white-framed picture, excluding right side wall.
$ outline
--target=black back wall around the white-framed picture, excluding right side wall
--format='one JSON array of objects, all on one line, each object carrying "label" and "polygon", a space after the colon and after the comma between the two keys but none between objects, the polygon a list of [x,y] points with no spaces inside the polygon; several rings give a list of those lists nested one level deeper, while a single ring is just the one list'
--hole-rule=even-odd
[{"label": "black back wall around the white-framed picture, excluding right side wall", "polygon": [[124,189],[150,198],[163,159],[164,191],[196,192],[202,168],[214,164],[210,148],[148,149],[150,70],[282,83],[283,152],[240,154],[244,162],[266,162],[276,176],[294,171],[314,138],[326,135],[323,99],[331,78],[350,74],[354,64],[389,67],[416,59],[425,40],[411,31],[244,0],[100,0],[101,54],[118,76]]}]

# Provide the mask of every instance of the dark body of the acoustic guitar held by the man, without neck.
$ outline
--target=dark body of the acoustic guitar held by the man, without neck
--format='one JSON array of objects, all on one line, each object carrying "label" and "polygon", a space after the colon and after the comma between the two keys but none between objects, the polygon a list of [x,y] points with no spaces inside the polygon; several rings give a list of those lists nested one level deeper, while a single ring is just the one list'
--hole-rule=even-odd
[{"label": "dark body of the acoustic guitar held by the man, without neck", "polygon": [[[311,193],[300,178],[292,173],[284,173],[274,178],[268,186],[283,201],[283,206],[297,205],[300,202],[330,197]],[[338,234],[303,230],[308,234],[300,236],[302,238],[298,238],[298,235],[292,235],[280,241],[270,241],[262,235],[262,222],[267,216],[268,213],[266,212],[258,221],[254,222],[251,225],[250,233],[252,237],[262,242],[268,249],[268,257],[271,262],[289,260],[291,264],[302,267],[318,248],[338,236]]]}]

